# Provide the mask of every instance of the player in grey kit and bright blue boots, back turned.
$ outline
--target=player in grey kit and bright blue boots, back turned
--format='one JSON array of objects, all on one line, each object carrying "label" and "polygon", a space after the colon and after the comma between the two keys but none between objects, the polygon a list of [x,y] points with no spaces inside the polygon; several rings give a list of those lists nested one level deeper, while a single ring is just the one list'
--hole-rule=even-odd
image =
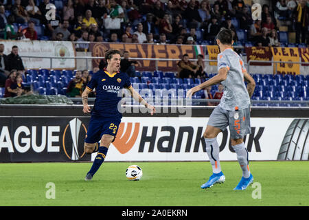
[{"label": "player in grey kit and bright blue boots, back turned", "polygon": [[[216,36],[216,42],[220,47],[218,74],[187,91],[187,97],[190,98],[196,91],[211,85],[221,83],[225,87],[220,104],[211,113],[203,135],[213,174],[201,188],[210,188],[214,184],[225,181],[225,175],[220,168],[219,146],[216,137],[227,126],[229,126],[231,135],[231,146],[235,150],[240,168],[242,168],[242,178],[234,190],[245,190],[253,183],[253,176],[249,170],[249,155],[244,146],[243,137],[251,133],[250,98],[255,89],[255,81],[244,67],[242,58],[231,49],[232,39],[231,30],[226,28],[220,30]],[[247,88],[244,80],[248,83]]]}]

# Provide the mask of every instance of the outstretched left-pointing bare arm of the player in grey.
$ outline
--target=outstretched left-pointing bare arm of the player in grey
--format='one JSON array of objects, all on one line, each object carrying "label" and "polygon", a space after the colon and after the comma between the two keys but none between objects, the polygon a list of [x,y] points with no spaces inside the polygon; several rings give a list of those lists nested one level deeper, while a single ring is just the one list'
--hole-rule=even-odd
[{"label": "outstretched left-pointing bare arm of the player in grey", "polygon": [[227,79],[227,72],[229,72],[229,69],[226,67],[222,67],[219,69],[218,74],[216,76],[211,77],[209,80],[205,81],[204,83],[197,85],[196,87],[193,87],[192,89],[189,89],[187,91],[187,98],[191,98],[196,91],[200,91],[201,89],[204,89],[206,87],[209,87],[211,85],[216,85],[218,83],[221,83],[222,81]]}]

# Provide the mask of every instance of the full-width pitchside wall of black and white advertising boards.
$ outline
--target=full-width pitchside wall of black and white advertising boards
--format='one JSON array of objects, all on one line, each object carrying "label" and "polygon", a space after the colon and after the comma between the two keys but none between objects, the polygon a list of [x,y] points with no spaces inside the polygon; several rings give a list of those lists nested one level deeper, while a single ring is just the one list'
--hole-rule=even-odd
[{"label": "full-width pitchside wall of black and white advertising boards", "polygon": [[[203,131],[212,107],[128,107],[106,161],[205,161]],[[251,160],[308,160],[309,109],[253,107],[244,143]],[[81,105],[1,105],[0,162],[91,161],[84,154],[89,115]],[[13,116],[14,115],[14,116]],[[220,159],[236,160],[229,131],[218,136]]]}]

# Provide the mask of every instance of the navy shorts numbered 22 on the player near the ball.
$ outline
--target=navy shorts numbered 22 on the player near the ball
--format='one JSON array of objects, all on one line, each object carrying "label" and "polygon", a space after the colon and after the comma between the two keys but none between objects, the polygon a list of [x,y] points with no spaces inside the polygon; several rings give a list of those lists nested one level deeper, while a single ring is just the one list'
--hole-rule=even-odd
[{"label": "navy shorts numbered 22 on the player near the ball", "polygon": [[105,134],[116,136],[121,119],[119,118],[99,118],[91,116],[88,126],[87,136],[84,142],[93,144],[99,142]]}]

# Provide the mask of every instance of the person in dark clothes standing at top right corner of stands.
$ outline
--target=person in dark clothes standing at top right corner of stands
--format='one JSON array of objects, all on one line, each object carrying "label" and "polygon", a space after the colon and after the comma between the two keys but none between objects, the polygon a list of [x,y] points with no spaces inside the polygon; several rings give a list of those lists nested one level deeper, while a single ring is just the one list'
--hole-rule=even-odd
[{"label": "person in dark clothes standing at top right corner of stands", "polygon": [[[306,43],[308,33],[309,6],[306,5],[306,0],[301,0],[294,9],[296,43]],[[307,42],[309,44],[309,42]]]}]

